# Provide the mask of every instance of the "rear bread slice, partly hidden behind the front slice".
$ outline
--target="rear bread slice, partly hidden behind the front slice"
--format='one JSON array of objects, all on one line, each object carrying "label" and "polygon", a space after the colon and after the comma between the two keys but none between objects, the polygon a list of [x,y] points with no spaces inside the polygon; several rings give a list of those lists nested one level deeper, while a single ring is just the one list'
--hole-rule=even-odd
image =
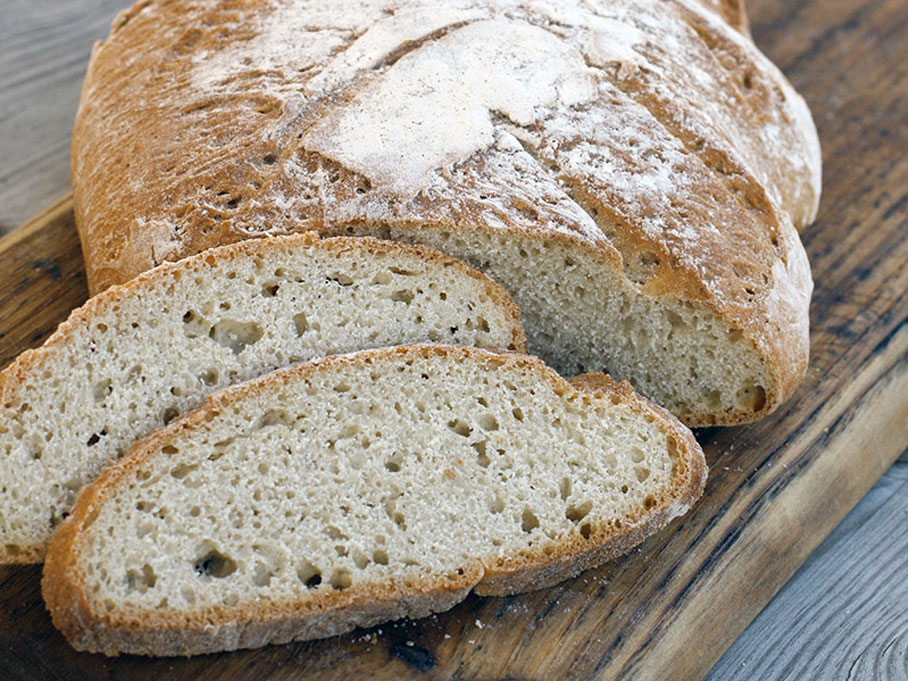
[{"label": "rear bread slice, partly hidden behind the front slice", "polygon": [[429,248],[368,238],[256,239],[105,291],[0,373],[0,563],[40,561],[82,485],[212,391],[436,341],[526,349],[500,286]]}]

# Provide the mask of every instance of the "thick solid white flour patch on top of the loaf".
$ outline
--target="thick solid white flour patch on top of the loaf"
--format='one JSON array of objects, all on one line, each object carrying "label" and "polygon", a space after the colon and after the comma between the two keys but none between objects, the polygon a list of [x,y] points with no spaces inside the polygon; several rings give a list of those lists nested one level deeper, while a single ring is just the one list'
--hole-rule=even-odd
[{"label": "thick solid white flour patch on top of the loaf", "polygon": [[493,112],[527,126],[541,107],[581,104],[594,92],[580,53],[551,33],[479,21],[402,57],[303,143],[412,198],[436,169],[494,142]]}]

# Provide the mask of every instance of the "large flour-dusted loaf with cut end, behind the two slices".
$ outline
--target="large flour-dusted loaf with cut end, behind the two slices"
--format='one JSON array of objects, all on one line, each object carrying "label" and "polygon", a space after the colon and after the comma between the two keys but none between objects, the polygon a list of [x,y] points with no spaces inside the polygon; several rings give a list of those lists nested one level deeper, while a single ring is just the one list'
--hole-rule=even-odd
[{"label": "large flour-dusted loaf with cut end, behind the two slices", "polygon": [[93,291],[373,235],[468,260],[548,364],[691,425],[761,417],[806,369],[819,146],[736,0],[140,2],[72,160]]}]

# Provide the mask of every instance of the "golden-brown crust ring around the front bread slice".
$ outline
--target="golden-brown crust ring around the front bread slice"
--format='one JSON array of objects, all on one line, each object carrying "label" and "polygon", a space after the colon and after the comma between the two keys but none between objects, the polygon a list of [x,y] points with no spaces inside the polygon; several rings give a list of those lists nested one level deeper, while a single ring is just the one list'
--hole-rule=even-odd
[{"label": "golden-brown crust ring around the front bread slice", "polygon": [[[643,410],[659,421],[675,445],[676,468],[671,489],[651,508],[641,508],[620,527],[593,528],[586,542],[565,542],[546,555],[542,550],[519,560],[496,565],[477,562],[462,566],[462,575],[447,580],[416,579],[409,584],[354,585],[343,591],[319,591],[315,596],[288,603],[238,604],[211,608],[188,617],[180,611],[100,614],[91,607],[82,586],[82,531],[98,509],[128,477],[160,448],[213,418],[238,399],[268,394],[276,386],[300,380],[314,372],[338,368],[367,368],[371,363],[408,357],[441,357],[451,361],[472,359],[490,369],[508,367],[529,372],[561,394],[585,403],[606,399],[627,408]],[[561,581],[628,550],[648,534],[680,515],[703,489],[706,463],[690,431],[664,410],[637,397],[628,384],[616,384],[602,375],[587,375],[572,384],[534,357],[497,353],[469,347],[412,345],[366,350],[328,357],[275,371],[227,388],[208,398],[205,406],[184,415],[167,427],[136,443],[129,454],[109,465],[79,494],[72,515],[58,528],[42,578],[42,593],[54,625],[80,650],[107,655],[194,655],[218,650],[256,647],[266,643],[320,638],[403,616],[419,617],[453,607],[475,590],[484,595],[520,593]]]}]

